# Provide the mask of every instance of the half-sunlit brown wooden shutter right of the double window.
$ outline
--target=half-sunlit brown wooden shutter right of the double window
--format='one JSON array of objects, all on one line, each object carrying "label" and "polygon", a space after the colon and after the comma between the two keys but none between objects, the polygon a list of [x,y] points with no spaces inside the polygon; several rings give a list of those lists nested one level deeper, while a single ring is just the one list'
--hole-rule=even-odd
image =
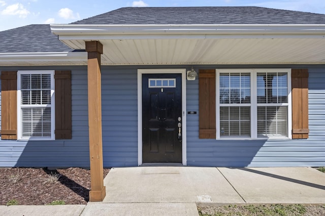
[{"label": "half-sunlit brown wooden shutter right of the double window", "polygon": [[308,129],[308,69],[291,70],[293,139],[307,139]]}]

